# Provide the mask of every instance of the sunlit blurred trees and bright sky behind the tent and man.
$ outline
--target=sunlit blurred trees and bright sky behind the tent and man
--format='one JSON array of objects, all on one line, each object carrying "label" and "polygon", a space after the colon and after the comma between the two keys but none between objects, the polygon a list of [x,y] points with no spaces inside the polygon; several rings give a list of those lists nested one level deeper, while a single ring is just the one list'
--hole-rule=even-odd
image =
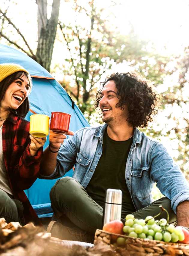
[{"label": "sunlit blurred trees and bright sky behind the tent and man", "polygon": [[[161,101],[159,114],[144,130],[166,145],[189,178],[189,6],[151,2],[4,0],[0,43],[19,48],[49,70],[91,125],[101,123],[94,95],[107,75],[135,71],[151,80]],[[172,16],[163,20],[164,14]],[[182,46],[178,51],[168,44],[174,34]]]}]

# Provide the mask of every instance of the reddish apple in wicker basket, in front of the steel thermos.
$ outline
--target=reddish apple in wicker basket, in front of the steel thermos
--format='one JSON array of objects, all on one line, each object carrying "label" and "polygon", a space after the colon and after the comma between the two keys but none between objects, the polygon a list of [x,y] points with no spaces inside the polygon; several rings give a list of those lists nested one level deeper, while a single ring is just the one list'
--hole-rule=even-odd
[{"label": "reddish apple in wicker basket, in front of the steel thermos", "polygon": [[[121,220],[112,220],[103,226],[103,230],[110,232],[110,233],[115,233],[122,235],[123,234],[123,223]],[[117,239],[117,236],[112,236],[112,239],[115,240]]]}]

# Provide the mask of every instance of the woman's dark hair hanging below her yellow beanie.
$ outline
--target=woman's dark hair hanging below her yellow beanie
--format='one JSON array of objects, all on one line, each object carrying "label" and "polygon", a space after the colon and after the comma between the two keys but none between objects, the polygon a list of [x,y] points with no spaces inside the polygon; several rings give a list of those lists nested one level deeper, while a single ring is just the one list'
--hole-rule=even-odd
[{"label": "woman's dark hair hanging below her yellow beanie", "polygon": [[[23,71],[17,71],[15,73],[13,73],[10,76],[7,76],[3,81],[0,82],[0,102],[2,101],[4,94],[7,90],[7,88],[9,87],[9,85],[11,83],[13,83],[16,79],[21,78],[22,76],[26,75],[28,80],[29,80],[29,92],[31,92],[31,88],[32,88],[32,80],[31,77],[28,73],[23,72]],[[11,110],[14,114],[16,114],[19,117],[25,117],[26,114],[29,111],[29,100],[28,97],[24,100],[24,102],[22,103],[22,105],[19,106],[19,108],[12,109]]]}]

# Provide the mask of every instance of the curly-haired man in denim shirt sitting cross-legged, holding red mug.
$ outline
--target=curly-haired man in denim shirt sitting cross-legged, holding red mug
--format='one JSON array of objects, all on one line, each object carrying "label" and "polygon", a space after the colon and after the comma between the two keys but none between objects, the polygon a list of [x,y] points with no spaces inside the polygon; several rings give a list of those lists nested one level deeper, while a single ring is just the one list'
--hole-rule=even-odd
[{"label": "curly-haired man in denim shirt sitting cross-legged, holding red mug", "polygon": [[[42,177],[63,176],[75,165],[73,178],[58,180],[50,192],[58,220],[49,224],[52,235],[91,242],[102,225],[108,188],[122,190],[122,218],[129,213],[143,219],[154,216],[163,205],[170,222],[177,219],[178,225],[189,226],[187,181],[163,145],[137,129],[153,120],[157,99],[136,74],[114,73],[96,95],[104,126],[83,128],[74,135],[69,131],[73,136],[63,145],[66,136],[50,131]],[[152,203],[155,182],[165,197]]]}]

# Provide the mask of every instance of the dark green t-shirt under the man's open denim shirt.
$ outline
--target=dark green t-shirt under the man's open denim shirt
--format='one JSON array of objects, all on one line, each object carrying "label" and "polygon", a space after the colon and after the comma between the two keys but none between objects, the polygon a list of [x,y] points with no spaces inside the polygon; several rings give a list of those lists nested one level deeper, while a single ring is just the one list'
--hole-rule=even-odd
[{"label": "dark green t-shirt under the man's open denim shirt", "polygon": [[106,190],[121,189],[122,212],[136,211],[125,181],[125,166],[132,141],[132,137],[126,141],[115,141],[110,139],[107,131],[104,133],[102,155],[86,187],[88,195],[103,208]]}]

